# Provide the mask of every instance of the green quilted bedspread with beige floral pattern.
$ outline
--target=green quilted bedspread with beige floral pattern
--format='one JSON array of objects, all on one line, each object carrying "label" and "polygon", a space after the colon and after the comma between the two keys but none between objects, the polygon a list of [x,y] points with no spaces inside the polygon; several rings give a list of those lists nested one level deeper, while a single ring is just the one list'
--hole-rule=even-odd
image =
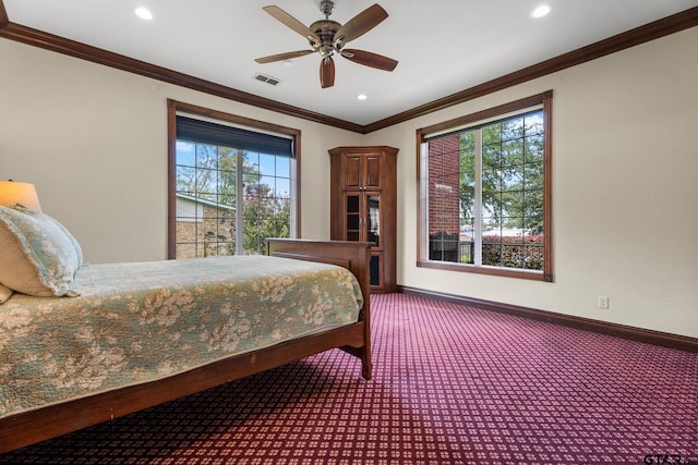
[{"label": "green quilted bedspread with beige floral pattern", "polygon": [[342,268],[268,256],[84,266],[76,284],[0,305],[0,417],[352,323],[363,303]]}]

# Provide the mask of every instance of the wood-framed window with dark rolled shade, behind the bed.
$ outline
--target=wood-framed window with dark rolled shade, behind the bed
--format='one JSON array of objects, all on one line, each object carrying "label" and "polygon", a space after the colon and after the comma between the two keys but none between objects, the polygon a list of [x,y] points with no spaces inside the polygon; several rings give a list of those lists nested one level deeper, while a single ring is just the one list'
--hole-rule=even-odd
[{"label": "wood-framed window with dark rolled shade, behind the bed", "polygon": [[265,253],[296,237],[300,133],[169,101],[169,257]]}]

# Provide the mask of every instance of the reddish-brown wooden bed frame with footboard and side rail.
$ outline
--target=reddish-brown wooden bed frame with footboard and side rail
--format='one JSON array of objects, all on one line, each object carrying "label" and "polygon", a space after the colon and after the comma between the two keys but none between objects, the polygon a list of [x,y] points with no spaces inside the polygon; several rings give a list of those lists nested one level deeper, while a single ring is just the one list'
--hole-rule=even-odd
[{"label": "reddish-brown wooden bed frame with footboard and side rail", "polygon": [[118,418],[164,402],[254,375],[330,348],[340,347],[359,357],[362,376],[371,379],[371,326],[369,260],[371,244],[340,241],[274,238],[267,254],[320,261],[348,268],[364,296],[358,322],[236,355],[158,381],[50,405],[0,419],[0,454]]}]

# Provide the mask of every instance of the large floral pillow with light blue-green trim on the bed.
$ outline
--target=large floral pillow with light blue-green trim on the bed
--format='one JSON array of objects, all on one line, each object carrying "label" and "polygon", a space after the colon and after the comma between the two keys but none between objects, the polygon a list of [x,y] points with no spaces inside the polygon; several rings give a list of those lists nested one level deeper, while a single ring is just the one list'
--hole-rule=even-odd
[{"label": "large floral pillow with light blue-green trim on the bed", "polygon": [[0,283],[16,292],[50,297],[80,295],[73,279],[82,249],[53,218],[15,205],[0,207]]}]

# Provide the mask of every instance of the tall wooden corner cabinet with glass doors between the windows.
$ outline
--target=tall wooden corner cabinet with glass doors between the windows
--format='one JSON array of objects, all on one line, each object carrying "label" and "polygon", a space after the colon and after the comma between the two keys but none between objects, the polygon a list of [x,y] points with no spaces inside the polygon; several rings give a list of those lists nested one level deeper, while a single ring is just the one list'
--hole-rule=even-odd
[{"label": "tall wooden corner cabinet with glass doors between the windows", "polygon": [[330,238],[373,242],[371,292],[395,292],[397,148],[336,147],[330,157]]}]

